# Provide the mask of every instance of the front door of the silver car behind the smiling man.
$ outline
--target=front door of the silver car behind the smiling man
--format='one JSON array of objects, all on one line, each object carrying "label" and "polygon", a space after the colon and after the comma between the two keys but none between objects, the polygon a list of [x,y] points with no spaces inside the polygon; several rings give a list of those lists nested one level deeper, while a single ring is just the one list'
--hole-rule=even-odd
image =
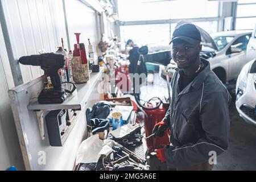
[{"label": "front door of the silver car behind the smiling man", "polygon": [[250,39],[250,34],[242,35],[228,48],[229,80],[237,78],[243,65],[246,64],[246,47]]}]

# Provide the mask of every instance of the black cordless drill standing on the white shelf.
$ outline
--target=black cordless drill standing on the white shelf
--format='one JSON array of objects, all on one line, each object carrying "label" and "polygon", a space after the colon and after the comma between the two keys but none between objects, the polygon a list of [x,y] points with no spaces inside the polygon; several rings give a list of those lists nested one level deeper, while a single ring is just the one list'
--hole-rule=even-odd
[{"label": "black cordless drill standing on the white shelf", "polygon": [[67,98],[67,94],[59,76],[59,69],[64,67],[65,59],[63,55],[56,53],[44,53],[42,55],[31,55],[20,57],[19,63],[24,65],[40,66],[44,75],[51,77],[53,88],[44,88],[39,94],[40,104],[61,104]]}]

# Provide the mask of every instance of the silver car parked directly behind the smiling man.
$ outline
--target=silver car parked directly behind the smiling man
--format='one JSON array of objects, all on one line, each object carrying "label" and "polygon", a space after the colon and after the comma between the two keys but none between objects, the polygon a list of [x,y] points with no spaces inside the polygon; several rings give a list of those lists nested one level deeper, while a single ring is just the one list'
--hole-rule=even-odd
[{"label": "silver car parked directly behind the smiling man", "polygon": [[[211,34],[215,46],[208,46],[203,42],[201,57],[207,59],[210,68],[223,82],[231,82],[236,79],[247,63],[246,47],[251,37],[251,31],[225,31]],[[214,47],[216,47],[214,49]],[[174,62],[169,64],[168,76],[174,73]],[[160,75],[166,77],[164,67],[160,67]]]}]

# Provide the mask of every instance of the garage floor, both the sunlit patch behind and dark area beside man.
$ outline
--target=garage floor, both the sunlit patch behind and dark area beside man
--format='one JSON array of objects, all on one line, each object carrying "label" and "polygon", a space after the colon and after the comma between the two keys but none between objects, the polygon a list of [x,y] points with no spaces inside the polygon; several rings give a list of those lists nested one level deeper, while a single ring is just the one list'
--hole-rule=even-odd
[{"label": "garage floor, both the sunlit patch behind and dark area beside man", "polygon": [[[168,97],[166,80],[155,76],[155,84],[142,86],[141,93],[143,100],[155,96]],[[236,110],[234,100],[230,104],[229,112],[229,148],[218,156],[213,170],[256,170],[256,127],[243,121]]]}]

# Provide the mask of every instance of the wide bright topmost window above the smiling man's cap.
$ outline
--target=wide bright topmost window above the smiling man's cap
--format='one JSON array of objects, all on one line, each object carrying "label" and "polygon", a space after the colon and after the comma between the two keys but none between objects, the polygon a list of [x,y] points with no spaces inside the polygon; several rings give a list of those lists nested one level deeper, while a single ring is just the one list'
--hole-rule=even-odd
[{"label": "wide bright topmost window above the smiling man's cap", "polygon": [[118,14],[121,21],[217,17],[218,2],[118,0]]}]

